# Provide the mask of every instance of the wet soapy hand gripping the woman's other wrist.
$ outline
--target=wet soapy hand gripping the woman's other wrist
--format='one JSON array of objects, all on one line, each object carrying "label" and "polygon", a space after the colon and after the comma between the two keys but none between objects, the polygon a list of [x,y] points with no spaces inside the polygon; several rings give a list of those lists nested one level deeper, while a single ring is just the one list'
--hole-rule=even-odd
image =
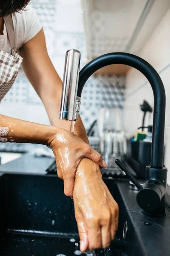
[{"label": "wet soapy hand gripping the woman's other wrist", "polygon": [[48,139],[48,145],[54,152],[57,175],[64,180],[64,193],[67,196],[73,197],[74,177],[82,158],[90,158],[100,167],[106,167],[99,153],[77,135],[65,129],[57,128],[57,133]]}]

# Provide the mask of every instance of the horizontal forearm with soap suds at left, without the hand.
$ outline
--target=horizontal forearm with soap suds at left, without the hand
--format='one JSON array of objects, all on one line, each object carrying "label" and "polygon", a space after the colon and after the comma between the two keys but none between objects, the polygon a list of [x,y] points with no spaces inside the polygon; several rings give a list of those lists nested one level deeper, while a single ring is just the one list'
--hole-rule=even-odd
[{"label": "horizontal forearm with soap suds at left, without the hand", "polygon": [[59,128],[0,115],[0,141],[48,144]]}]

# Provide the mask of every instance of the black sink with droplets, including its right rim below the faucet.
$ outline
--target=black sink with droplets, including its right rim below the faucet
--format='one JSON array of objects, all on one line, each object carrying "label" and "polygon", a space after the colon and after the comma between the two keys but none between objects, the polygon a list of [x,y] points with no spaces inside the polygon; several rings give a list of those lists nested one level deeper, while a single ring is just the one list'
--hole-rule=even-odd
[{"label": "black sink with droplets, including its right rim below the faucet", "polygon": [[[154,220],[141,212],[127,180],[104,182],[119,204],[119,229],[109,249],[96,250],[96,255],[170,255],[169,213]],[[80,255],[74,203],[64,195],[57,175],[1,172],[0,206],[1,256]]]}]

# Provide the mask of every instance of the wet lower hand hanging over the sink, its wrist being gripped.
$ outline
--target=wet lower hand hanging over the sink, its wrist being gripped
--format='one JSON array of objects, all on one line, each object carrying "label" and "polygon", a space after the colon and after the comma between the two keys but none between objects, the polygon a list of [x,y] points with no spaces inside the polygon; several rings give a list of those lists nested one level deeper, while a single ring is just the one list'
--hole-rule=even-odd
[{"label": "wet lower hand hanging over the sink, its wrist being gripped", "polygon": [[118,229],[119,208],[91,160],[83,159],[78,166],[73,198],[80,250],[107,248]]}]

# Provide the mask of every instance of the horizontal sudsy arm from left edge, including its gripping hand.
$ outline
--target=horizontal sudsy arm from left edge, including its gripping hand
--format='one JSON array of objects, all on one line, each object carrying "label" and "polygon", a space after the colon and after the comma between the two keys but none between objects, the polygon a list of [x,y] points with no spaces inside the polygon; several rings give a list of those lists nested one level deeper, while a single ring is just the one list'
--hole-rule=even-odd
[{"label": "horizontal sudsy arm from left edge, including its gripping hand", "polygon": [[58,176],[64,180],[65,195],[73,195],[74,176],[79,162],[88,157],[101,167],[106,163],[77,135],[54,126],[40,125],[0,115],[0,141],[37,143],[51,147],[57,162]]}]

